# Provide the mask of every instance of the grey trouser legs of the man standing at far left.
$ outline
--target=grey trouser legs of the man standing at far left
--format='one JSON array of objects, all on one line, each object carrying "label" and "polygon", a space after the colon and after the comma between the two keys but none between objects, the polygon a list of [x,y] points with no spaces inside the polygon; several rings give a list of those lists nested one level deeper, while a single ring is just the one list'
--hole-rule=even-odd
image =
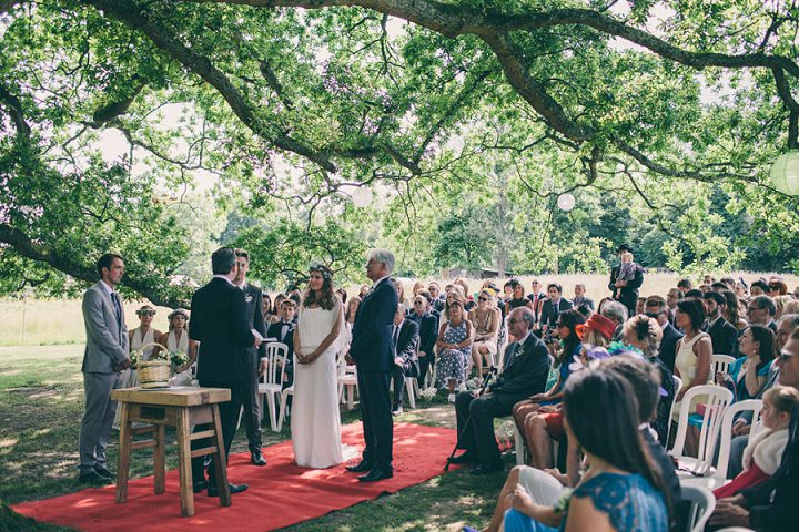
[{"label": "grey trouser legs of the man standing at far left", "polygon": [[[111,389],[114,382],[115,380],[112,379],[110,374],[83,374],[85,409],[83,411],[78,443],[80,450],[80,474],[92,472],[98,463],[100,433],[105,421],[105,410],[109,409],[111,403],[109,397],[111,396]],[[114,412],[111,412],[111,422],[113,422]],[[105,440],[108,442],[108,436]]]}]

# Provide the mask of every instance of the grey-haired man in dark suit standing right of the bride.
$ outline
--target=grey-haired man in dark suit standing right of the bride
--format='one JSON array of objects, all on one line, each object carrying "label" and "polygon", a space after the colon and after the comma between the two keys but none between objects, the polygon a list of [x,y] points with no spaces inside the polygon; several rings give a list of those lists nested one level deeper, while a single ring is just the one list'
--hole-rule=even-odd
[{"label": "grey-haired man in dark suit standing right of the bride", "polygon": [[388,278],[394,270],[394,254],[373,249],[366,264],[366,277],[374,284],[355,314],[350,355],[357,367],[361,417],[363,419],[363,458],[347,467],[361,482],[391,479],[394,421],[388,386],[394,366],[392,328],[400,298]]}]

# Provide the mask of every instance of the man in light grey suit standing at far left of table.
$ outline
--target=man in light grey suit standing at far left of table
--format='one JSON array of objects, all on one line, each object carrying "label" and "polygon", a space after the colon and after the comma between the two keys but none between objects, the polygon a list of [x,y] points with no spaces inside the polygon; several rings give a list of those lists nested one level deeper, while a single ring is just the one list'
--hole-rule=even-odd
[{"label": "man in light grey suit standing at far left of table", "polygon": [[80,428],[81,483],[110,483],[112,475],[105,467],[105,448],[117,413],[111,390],[122,382],[120,371],[130,367],[128,327],[117,285],[124,275],[121,256],[107,253],[98,259],[100,280],[83,295],[83,321],[87,347],[83,352],[83,390],[85,411]]}]

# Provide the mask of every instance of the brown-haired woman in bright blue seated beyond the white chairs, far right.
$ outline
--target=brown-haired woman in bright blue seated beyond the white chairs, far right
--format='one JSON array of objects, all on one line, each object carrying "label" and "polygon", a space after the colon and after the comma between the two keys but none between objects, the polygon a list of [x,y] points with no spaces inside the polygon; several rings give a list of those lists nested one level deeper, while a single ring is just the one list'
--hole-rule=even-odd
[{"label": "brown-haired woman in bright blue seated beyond the white chairs, far right", "polygon": [[716,383],[729,383],[736,401],[760,397],[768,381],[771,361],[777,352],[775,334],[762,325],[751,325],[739,340],[739,354],[744,355],[729,367],[729,375],[716,376]]}]

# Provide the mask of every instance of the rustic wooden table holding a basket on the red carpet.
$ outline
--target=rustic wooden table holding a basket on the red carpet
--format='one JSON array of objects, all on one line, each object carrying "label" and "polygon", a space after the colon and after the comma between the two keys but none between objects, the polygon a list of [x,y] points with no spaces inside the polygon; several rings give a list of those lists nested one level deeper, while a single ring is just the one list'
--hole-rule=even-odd
[{"label": "rustic wooden table holding a basket on the red carpet", "polygon": [[[178,432],[181,513],[184,516],[194,515],[191,459],[205,454],[213,454],[214,467],[219,472],[216,485],[219,487],[220,502],[223,507],[231,505],[222,424],[219,416],[219,403],[231,399],[229,389],[173,387],[145,390],[143,388],[123,388],[113,390],[111,399],[119,401],[119,408],[121,408],[117,502],[125,502],[128,499],[131,450],[154,448],[155,493],[164,492],[166,474],[164,428],[170,426],[174,427]],[[134,421],[148,424],[134,429],[132,426]],[[210,423],[211,429],[192,433],[191,427],[201,423]],[[134,434],[143,433],[152,433],[152,439],[133,441]],[[212,439],[213,443],[203,449],[191,450],[192,441],[206,438]]]}]

